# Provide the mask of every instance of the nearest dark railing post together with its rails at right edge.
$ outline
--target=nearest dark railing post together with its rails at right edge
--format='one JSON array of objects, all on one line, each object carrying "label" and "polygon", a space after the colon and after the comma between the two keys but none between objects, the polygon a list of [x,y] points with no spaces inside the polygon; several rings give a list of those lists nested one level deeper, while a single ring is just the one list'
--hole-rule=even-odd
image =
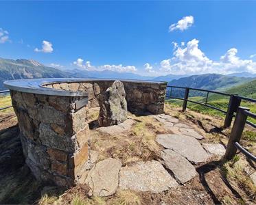
[{"label": "nearest dark railing post together with its rails at right edge", "polygon": [[[235,156],[237,149],[240,150],[243,154],[246,155],[249,159],[256,162],[256,156],[248,152],[240,145],[240,139],[242,137],[242,133],[244,131],[244,126],[246,124],[247,117],[256,119],[255,113],[251,113],[246,107],[238,107],[237,115],[235,116],[235,122],[232,127],[231,135],[229,137],[228,145],[226,146],[226,153],[224,155],[224,159],[231,160]],[[251,126],[256,128],[256,124],[251,122]]]}]

